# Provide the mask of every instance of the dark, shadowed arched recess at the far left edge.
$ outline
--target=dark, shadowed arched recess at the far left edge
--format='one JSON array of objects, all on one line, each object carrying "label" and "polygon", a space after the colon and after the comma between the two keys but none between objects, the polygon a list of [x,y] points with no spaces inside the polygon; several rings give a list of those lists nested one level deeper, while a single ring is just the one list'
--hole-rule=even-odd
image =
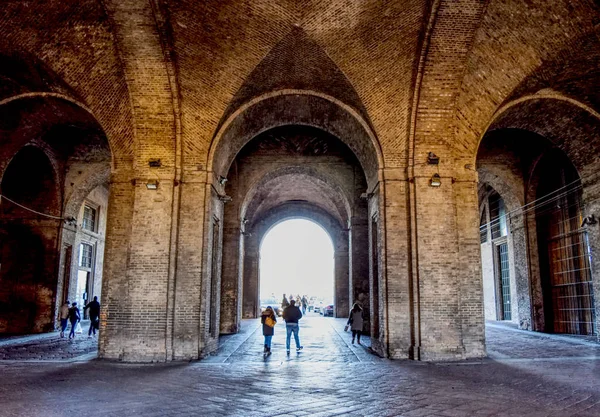
[{"label": "dark, shadowed arched recess at the far left edge", "polygon": [[57,173],[42,149],[25,146],[1,184],[0,332],[49,331],[61,225]]}]

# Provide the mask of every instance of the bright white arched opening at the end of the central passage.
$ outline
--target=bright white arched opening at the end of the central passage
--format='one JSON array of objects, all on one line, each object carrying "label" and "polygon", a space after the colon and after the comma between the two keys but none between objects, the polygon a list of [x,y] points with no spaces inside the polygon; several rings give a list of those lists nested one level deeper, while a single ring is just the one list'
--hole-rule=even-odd
[{"label": "bright white arched opening at the end of the central passage", "polygon": [[334,249],[317,223],[291,219],[275,225],[260,246],[260,299],[281,303],[283,294],[333,304]]}]

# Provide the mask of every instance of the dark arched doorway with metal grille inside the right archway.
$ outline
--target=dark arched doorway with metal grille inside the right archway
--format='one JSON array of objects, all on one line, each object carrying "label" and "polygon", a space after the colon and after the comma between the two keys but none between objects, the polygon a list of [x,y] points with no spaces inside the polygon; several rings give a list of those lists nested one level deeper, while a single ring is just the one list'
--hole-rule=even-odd
[{"label": "dark arched doorway with metal grille inside the right archway", "polygon": [[554,149],[542,156],[532,182],[545,331],[594,335],[592,254],[584,228],[581,178]]}]

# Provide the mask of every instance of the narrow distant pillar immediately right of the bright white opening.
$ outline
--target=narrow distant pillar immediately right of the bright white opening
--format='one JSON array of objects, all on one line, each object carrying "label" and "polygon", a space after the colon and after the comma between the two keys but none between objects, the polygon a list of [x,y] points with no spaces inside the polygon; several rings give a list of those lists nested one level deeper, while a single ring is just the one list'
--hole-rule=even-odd
[{"label": "narrow distant pillar immediately right of the bright white opening", "polygon": [[337,236],[334,237],[334,244],[334,314],[335,317],[347,317],[350,311],[350,299],[348,297],[350,294],[348,231],[339,230]]}]

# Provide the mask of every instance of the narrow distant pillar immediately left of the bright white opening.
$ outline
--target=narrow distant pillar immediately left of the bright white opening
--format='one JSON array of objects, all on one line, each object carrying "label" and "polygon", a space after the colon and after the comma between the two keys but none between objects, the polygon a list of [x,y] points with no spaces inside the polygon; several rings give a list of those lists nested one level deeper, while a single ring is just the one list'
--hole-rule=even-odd
[{"label": "narrow distant pillar immediately left of the bright white opening", "polygon": [[258,276],[260,242],[258,239],[258,233],[253,232],[245,240],[244,290],[242,295],[242,317],[245,319],[258,317],[260,313]]}]

